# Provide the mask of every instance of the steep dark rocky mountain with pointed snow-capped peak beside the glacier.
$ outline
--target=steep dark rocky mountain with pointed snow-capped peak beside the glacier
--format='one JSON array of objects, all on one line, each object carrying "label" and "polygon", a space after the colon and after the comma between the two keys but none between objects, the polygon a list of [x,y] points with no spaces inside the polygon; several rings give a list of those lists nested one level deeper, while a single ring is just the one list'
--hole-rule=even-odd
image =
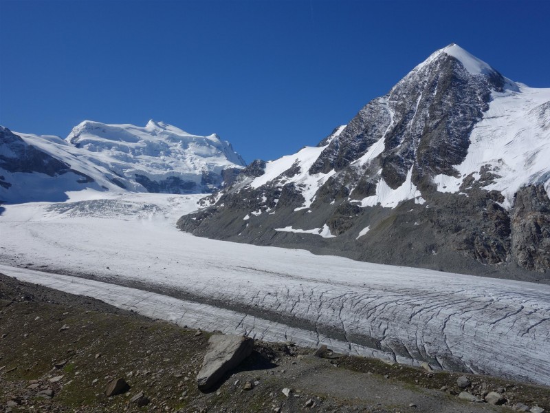
[{"label": "steep dark rocky mountain with pointed snow-capped peak beside the glacier", "polygon": [[550,89],[514,83],[452,44],[318,147],[252,162],[178,226],[369,262],[550,279],[549,159]]}]

